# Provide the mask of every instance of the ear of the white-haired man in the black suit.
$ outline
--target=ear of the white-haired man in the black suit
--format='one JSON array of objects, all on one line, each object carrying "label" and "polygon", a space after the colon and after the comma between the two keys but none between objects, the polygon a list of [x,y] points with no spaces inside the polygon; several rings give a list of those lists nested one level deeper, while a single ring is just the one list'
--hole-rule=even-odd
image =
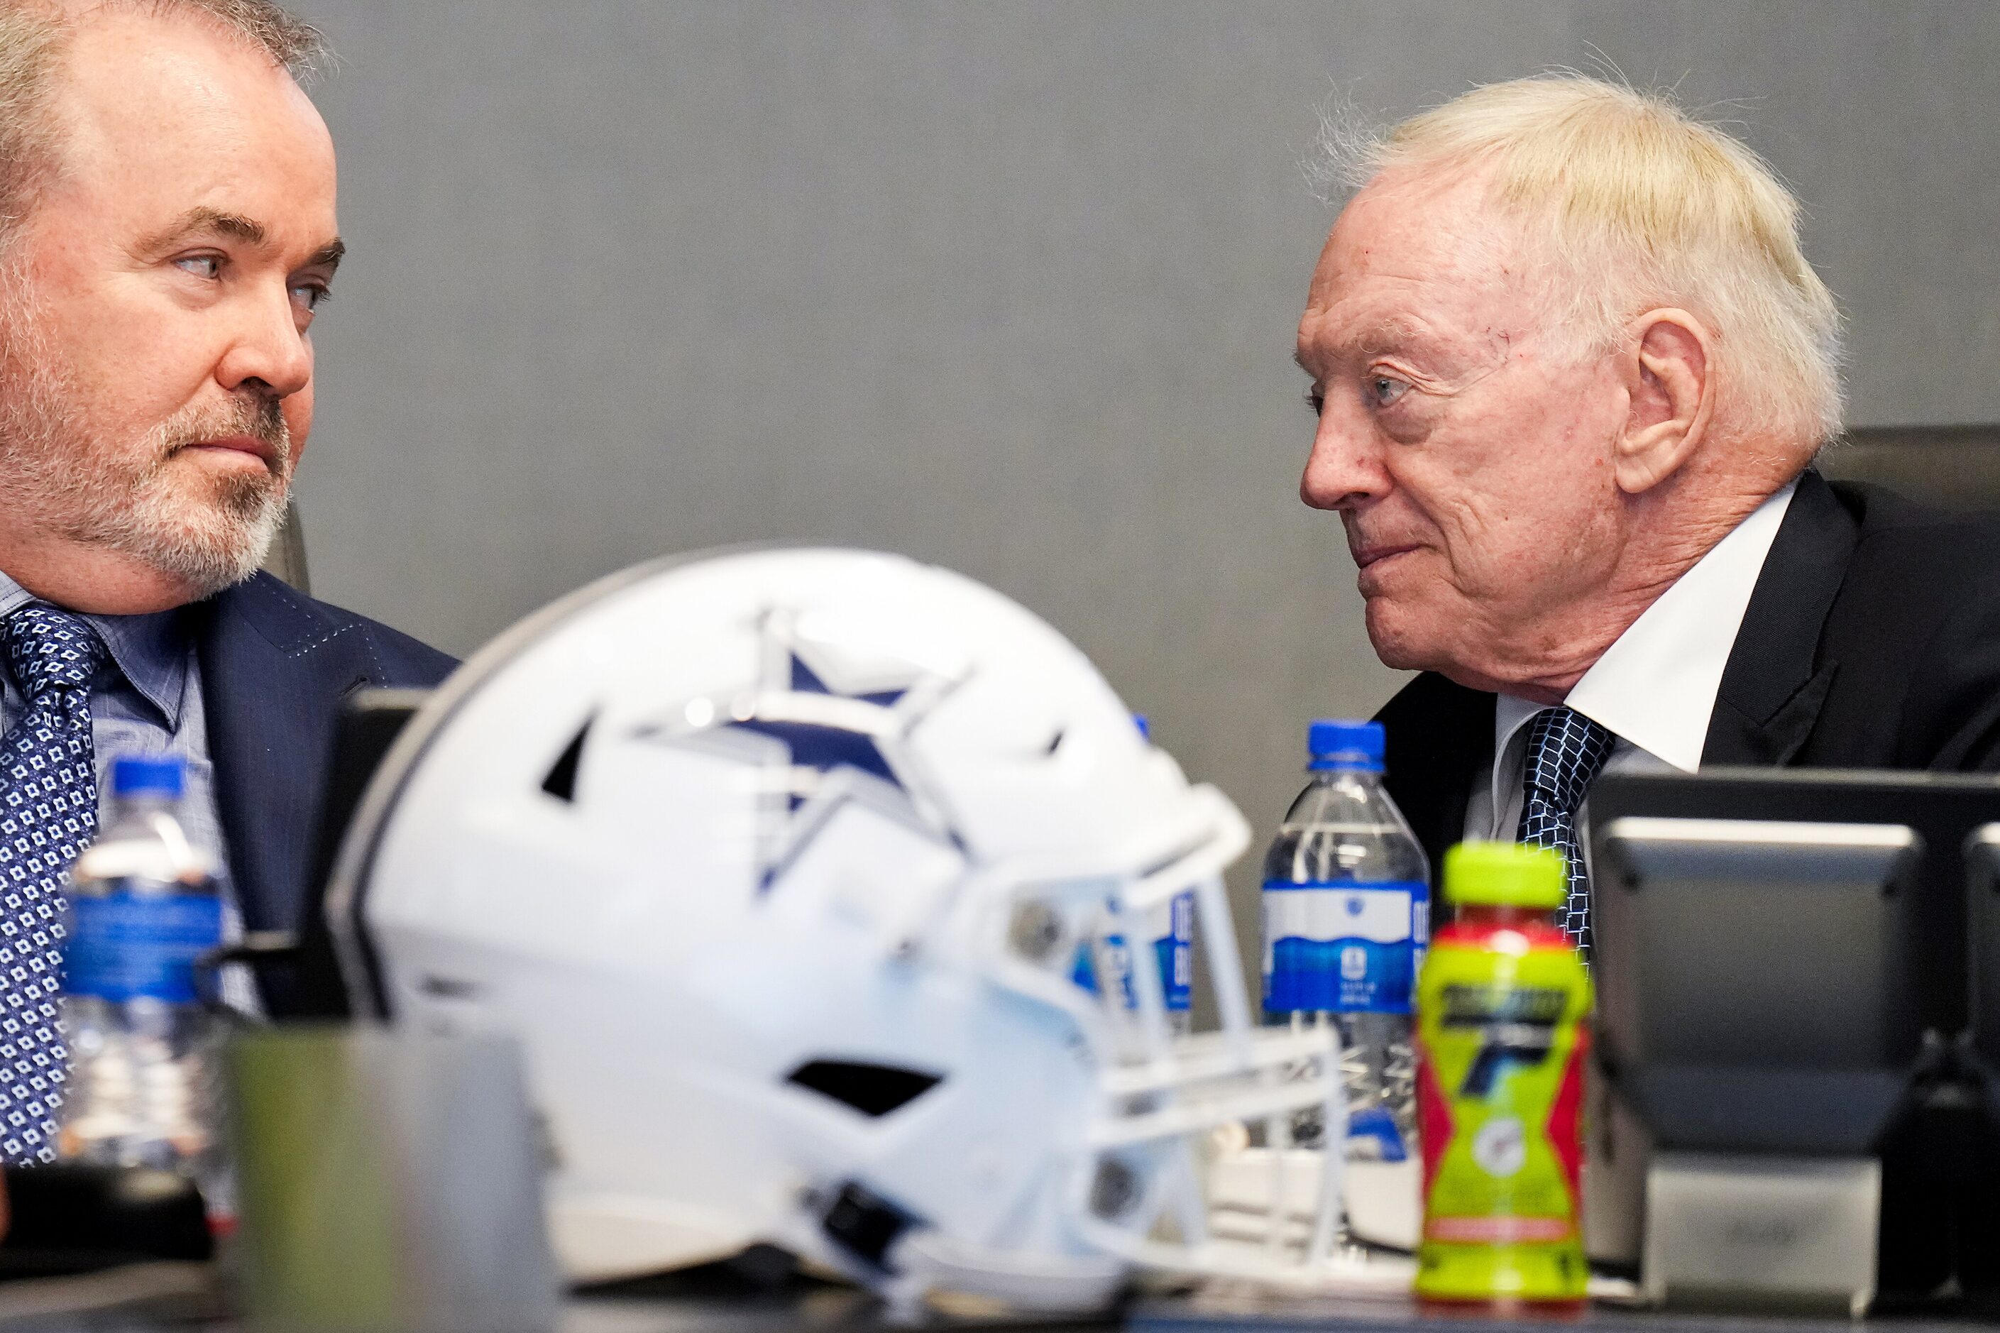
[{"label": "ear of the white-haired man in the black suit", "polygon": [[1652,490],[1694,456],[1716,408],[1714,334],[1686,310],[1648,310],[1626,328],[1618,372],[1630,398],[1612,440],[1626,494]]}]

